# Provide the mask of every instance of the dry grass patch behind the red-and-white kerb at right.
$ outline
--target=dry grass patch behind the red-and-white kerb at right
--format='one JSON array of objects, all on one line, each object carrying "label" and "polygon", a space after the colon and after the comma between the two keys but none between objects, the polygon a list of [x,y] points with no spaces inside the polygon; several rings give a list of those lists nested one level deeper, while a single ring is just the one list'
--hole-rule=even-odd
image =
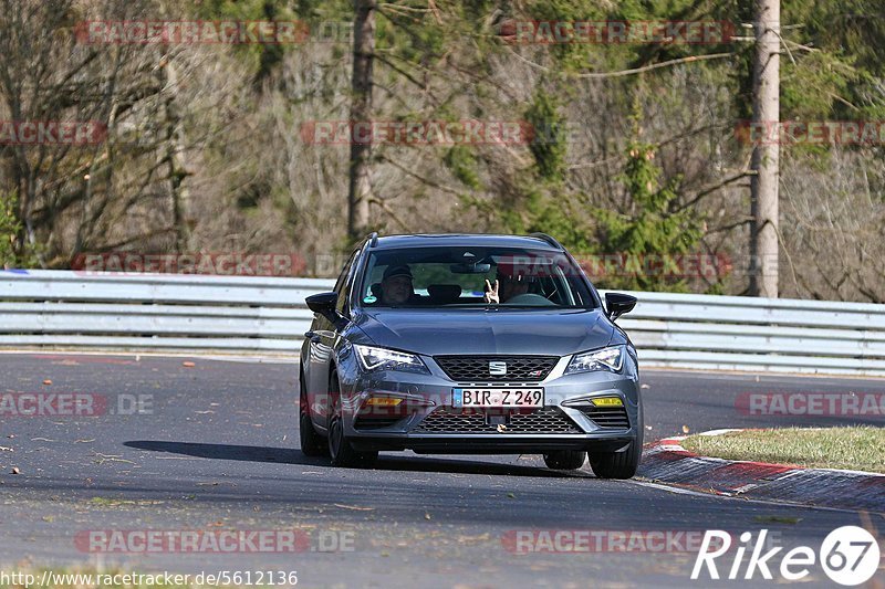
[{"label": "dry grass patch behind the red-and-white kerb at right", "polygon": [[690,435],[683,445],[702,456],[885,473],[885,428],[783,428]]}]

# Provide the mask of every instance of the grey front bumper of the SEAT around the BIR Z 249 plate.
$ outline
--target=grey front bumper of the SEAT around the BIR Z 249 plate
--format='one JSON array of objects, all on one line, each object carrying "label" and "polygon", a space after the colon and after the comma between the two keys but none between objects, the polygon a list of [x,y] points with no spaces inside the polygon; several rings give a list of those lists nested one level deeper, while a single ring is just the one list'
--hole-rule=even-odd
[{"label": "grey front bumper of the SEAT around the BIR Z 249 plate", "polygon": [[[541,382],[456,382],[430,358],[430,375],[364,374],[352,366],[341,378],[345,434],[357,450],[418,453],[608,452],[642,437],[642,400],[634,362],[621,374],[563,376],[566,358]],[[341,367],[340,367],[341,372]],[[456,387],[541,387],[544,407],[528,410],[461,410]],[[393,408],[369,406],[375,397],[399,399]],[[623,406],[594,408],[590,399],[617,397]]]}]

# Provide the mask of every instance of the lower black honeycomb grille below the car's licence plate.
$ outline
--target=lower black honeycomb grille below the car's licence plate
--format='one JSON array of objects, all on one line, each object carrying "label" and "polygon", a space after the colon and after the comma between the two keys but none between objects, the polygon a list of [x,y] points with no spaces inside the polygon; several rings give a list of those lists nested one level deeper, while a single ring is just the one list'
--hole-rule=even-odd
[{"label": "lower black honeycomb grille below the car's licence plate", "polygon": [[437,409],[424,418],[415,433],[583,433],[560,409],[544,407],[530,413],[510,416],[510,423],[502,429],[487,423],[486,416],[478,412],[457,412]]}]

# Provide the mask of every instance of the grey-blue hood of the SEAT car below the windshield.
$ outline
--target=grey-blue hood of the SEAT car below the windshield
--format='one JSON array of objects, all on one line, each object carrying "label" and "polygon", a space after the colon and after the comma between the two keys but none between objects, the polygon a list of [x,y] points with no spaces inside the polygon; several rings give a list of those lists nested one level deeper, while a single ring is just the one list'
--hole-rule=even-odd
[{"label": "grey-blue hood of the SEAT car below the windshield", "polygon": [[565,356],[604,347],[614,332],[601,309],[364,309],[355,320],[378,346],[427,356]]}]

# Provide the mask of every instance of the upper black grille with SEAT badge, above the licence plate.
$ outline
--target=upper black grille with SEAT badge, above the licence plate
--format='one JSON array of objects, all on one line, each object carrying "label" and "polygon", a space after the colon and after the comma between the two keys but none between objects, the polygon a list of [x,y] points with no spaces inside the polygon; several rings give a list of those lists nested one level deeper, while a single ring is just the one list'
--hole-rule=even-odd
[{"label": "upper black grille with SEAT badge, above the licence plate", "polygon": [[[458,382],[540,382],[556,366],[556,356],[436,356],[448,377]],[[503,362],[507,372],[490,374],[490,362]]]}]

